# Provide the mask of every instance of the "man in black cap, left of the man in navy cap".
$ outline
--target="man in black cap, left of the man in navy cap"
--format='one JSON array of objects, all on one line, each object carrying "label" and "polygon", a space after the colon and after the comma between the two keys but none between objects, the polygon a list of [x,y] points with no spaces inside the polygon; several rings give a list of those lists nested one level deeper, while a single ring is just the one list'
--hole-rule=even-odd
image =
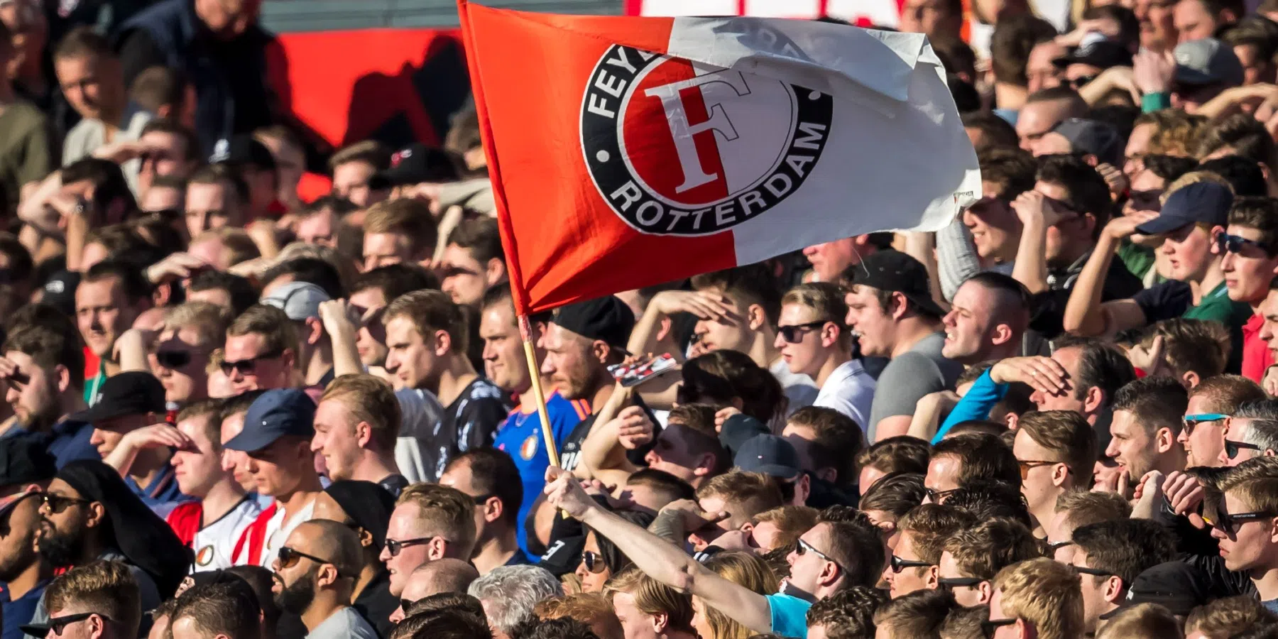
[{"label": "man in black cap, left of the man in navy cap", "polygon": [[153,374],[125,371],[102,382],[98,401],[72,419],[93,424],[89,442],[97,446],[102,460],[120,472],[143,504],[166,515],[190,497],[178,488],[169,465],[173,449],[185,446],[187,437],[170,433],[171,437],[161,438],[164,445],[153,445],[157,431],[173,429],[165,423],[164,396],[164,386]]}]

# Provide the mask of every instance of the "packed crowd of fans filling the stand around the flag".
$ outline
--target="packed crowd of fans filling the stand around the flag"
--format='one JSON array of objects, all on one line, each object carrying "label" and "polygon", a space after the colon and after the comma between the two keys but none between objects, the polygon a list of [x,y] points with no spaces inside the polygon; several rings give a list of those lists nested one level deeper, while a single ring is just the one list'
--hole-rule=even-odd
[{"label": "packed crowd of fans filling the stand around the flag", "polygon": [[905,3],[948,227],[530,371],[473,107],[305,202],[256,0],[0,0],[0,639],[1278,636],[1278,1],[1076,5]]}]

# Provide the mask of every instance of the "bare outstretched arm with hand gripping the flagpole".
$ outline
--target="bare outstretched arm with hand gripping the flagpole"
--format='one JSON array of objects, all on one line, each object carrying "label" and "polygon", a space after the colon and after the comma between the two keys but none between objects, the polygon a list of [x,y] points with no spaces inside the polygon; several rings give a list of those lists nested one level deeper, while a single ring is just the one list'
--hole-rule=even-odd
[{"label": "bare outstretched arm with hand gripping the flagpole", "polygon": [[644,574],[679,592],[691,593],[757,633],[772,631],[768,599],[705,569],[682,550],[608,512],[581,489],[571,473],[546,469],[546,501],[564,509],[594,534],[608,538]]}]

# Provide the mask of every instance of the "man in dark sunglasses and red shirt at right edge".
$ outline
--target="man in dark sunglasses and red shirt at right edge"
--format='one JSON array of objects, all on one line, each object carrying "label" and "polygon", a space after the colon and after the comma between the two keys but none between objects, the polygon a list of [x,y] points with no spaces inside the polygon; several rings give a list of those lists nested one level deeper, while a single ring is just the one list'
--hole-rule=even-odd
[{"label": "man in dark sunglasses and red shirt at right edge", "polygon": [[1242,376],[1259,383],[1274,363],[1273,351],[1260,337],[1264,325],[1260,304],[1278,275],[1278,199],[1237,197],[1228,221],[1224,233],[1215,236],[1215,252],[1222,257],[1220,271],[1229,299],[1252,311],[1242,325]]}]

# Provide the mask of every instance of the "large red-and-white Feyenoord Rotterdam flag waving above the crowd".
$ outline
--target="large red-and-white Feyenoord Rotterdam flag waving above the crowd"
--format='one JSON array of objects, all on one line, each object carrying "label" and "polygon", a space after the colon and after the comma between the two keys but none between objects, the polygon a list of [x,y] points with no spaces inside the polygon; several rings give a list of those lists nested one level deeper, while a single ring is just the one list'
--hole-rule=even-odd
[{"label": "large red-and-white Feyenoord Rotterdam flag waving above the crowd", "polygon": [[924,36],[458,6],[519,313],[980,198]]}]

